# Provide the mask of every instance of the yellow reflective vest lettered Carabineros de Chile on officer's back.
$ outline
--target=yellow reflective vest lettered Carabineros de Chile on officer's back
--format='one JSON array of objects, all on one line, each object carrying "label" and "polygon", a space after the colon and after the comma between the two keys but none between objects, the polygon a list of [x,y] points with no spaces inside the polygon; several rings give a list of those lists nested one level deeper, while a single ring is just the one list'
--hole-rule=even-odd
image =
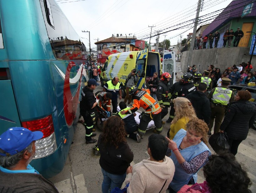
[{"label": "yellow reflective vest lettered Carabineros de Chile on officer's back", "polygon": [[212,101],[213,103],[227,106],[229,104],[231,95],[232,91],[230,89],[224,87],[216,87],[212,95]]}]

